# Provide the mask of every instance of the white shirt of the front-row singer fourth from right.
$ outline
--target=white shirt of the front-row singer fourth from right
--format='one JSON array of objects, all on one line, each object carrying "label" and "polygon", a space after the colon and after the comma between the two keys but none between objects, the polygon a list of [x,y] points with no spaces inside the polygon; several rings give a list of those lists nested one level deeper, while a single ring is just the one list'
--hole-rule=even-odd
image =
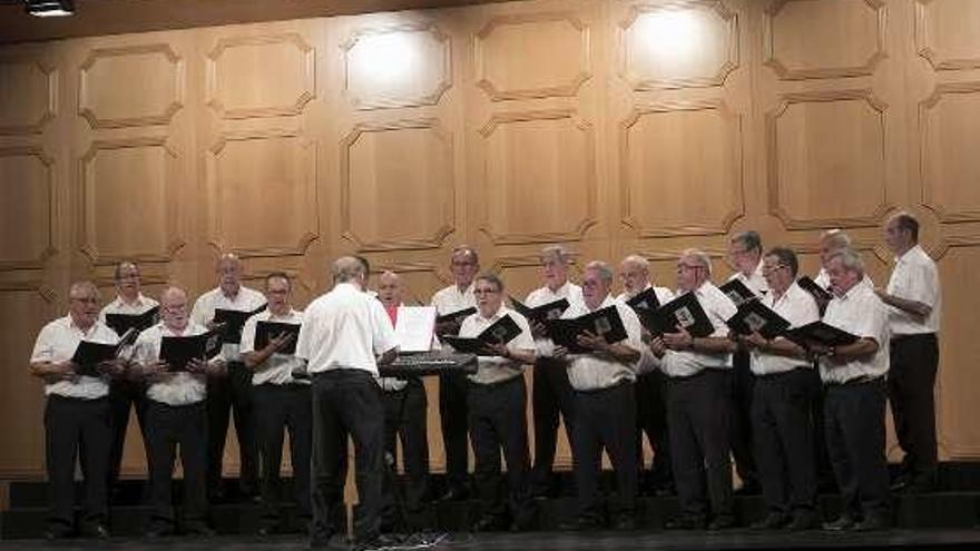
[{"label": "white shirt of the front-row singer fourth from right", "polygon": [[[626,329],[626,338],[620,341],[636,352],[640,352],[644,347],[641,340],[641,327],[639,318],[633,308],[607,295],[602,304],[596,311],[589,309],[585,301],[571,303],[565,314],[564,319],[571,319],[592,312],[602,309],[608,306],[615,306],[619,318],[623,319],[623,327]],[[571,387],[577,391],[595,391],[600,388],[609,388],[623,381],[636,381],[637,362],[624,363],[610,358],[606,354],[569,354],[568,361],[568,382]]]}]

